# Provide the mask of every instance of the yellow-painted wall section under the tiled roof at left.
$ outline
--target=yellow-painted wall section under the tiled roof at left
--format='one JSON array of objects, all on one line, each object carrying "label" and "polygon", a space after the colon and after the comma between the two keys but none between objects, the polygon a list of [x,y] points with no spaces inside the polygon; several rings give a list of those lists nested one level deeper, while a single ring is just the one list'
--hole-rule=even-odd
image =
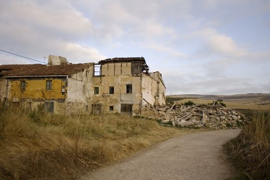
[{"label": "yellow-painted wall section under the tiled roof at left", "polygon": [[[21,81],[26,81],[25,91],[21,90]],[[52,80],[52,90],[46,90],[46,80]],[[16,99],[62,99],[62,86],[65,82],[62,78],[43,78],[43,79],[10,79],[9,80],[9,100]]]}]

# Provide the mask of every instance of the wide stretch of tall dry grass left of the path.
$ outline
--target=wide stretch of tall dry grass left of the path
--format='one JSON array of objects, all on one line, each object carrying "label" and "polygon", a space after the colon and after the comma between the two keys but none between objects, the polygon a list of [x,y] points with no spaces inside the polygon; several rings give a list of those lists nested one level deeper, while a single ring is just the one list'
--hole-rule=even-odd
[{"label": "wide stretch of tall dry grass left of the path", "polygon": [[120,114],[0,109],[0,179],[77,178],[171,137],[176,129]]}]

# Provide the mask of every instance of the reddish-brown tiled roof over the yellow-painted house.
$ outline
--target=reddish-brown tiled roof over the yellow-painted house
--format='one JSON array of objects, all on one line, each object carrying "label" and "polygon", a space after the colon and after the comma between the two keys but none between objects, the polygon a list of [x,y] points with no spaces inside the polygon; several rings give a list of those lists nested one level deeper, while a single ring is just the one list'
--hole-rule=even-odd
[{"label": "reddish-brown tiled roof over the yellow-painted house", "polygon": [[72,75],[91,64],[61,64],[53,66],[42,64],[0,65],[0,77]]}]

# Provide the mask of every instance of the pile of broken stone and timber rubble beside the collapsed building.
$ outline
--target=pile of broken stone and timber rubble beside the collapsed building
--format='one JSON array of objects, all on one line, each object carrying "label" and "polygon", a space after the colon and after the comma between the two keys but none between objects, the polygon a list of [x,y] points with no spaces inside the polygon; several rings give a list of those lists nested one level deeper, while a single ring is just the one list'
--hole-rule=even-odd
[{"label": "pile of broken stone and timber rubble beside the collapsed building", "polygon": [[235,110],[222,105],[180,105],[156,108],[163,124],[180,125],[181,127],[204,127],[215,129],[242,128],[247,118]]}]

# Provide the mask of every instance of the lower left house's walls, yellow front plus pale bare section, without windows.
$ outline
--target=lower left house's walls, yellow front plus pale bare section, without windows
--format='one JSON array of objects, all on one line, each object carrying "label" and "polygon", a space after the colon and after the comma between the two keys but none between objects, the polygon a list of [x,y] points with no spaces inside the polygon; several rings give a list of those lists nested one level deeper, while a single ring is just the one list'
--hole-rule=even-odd
[{"label": "lower left house's walls, yellow front plus pale bare section, without windows", "polygon": [[[8,99],[31,109],[51,101],[54,113],[85,112],[91,105],[92,77],[93,67],[90,66],[71,77],[9,79]],[[21,90],[22,80],[26,82],[24,91]],[[52,80],[52,90],[46,90],[46,80]]]}]

